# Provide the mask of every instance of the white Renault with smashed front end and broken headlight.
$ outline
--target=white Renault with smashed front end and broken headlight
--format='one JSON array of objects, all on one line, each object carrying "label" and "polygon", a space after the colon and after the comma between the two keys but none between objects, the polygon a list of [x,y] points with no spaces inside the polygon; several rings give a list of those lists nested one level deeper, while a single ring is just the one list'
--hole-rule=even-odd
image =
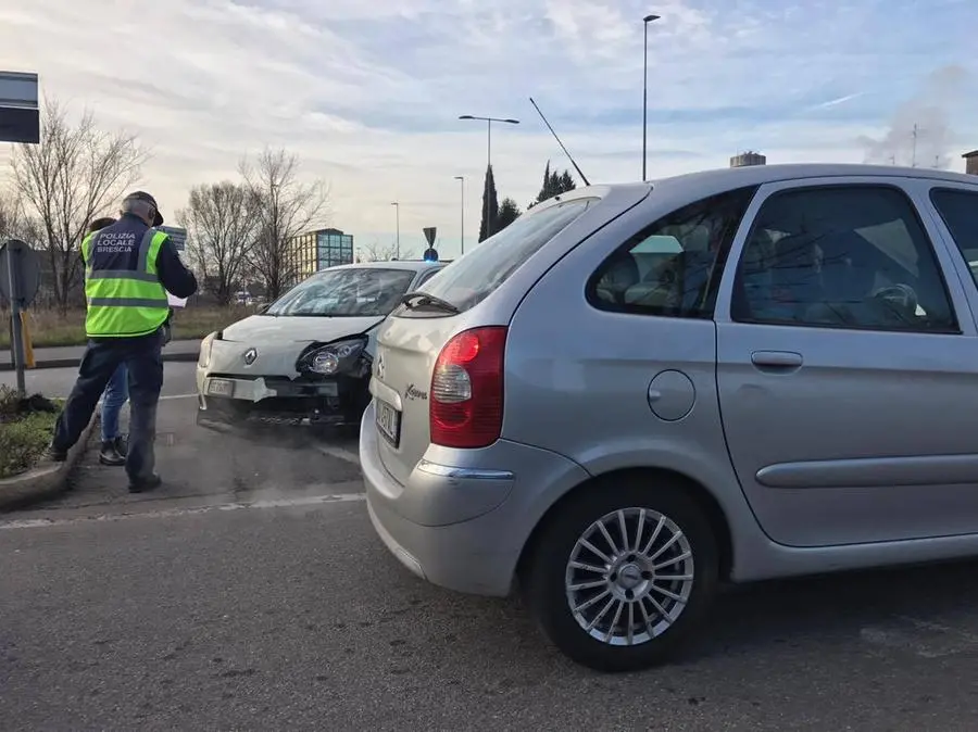
[{"label": "white Renault with smashed front end and broken headlight", "polygon": [[371,399],[377,326],[444,265],[330,267],[211,333],[197,364],[198,424],[359,426]]}]

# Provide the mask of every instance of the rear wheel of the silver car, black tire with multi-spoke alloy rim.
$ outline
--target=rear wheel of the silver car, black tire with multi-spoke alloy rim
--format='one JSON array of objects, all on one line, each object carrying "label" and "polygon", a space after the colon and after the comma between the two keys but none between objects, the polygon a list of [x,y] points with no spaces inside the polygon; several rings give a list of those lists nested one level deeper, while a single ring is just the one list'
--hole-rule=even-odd
[{"label": "rear wheel of the silver car, black tire with multi-spoke alloy rim", "polygon": [[[703,509],[681,483],[631,474],[589,483],[555,510],[535,538],[521,578],[524,601],[547,636],[598,671],[637,671],[672,658],[716,594],[717,542]],[[619,552],[611,551],[609,539]],[[605,615],[594,620],[602,609]]]}]

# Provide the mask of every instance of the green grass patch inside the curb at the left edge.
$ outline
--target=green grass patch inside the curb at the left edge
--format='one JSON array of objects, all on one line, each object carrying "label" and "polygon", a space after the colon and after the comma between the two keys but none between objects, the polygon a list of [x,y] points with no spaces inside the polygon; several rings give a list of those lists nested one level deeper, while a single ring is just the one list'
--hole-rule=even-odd
[{"label": "green grass patch inside the curb at the left edge", "polygon": [[9,387],[0,387],[0,478],[33,468],[51,442],[61,400],[40,394],[21,399]]}]

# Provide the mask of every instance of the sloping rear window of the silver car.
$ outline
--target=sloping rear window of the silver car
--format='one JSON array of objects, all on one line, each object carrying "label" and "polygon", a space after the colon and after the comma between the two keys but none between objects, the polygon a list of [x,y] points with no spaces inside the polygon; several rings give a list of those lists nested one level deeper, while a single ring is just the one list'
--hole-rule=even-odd
[{"label": "sloping rear window of the silver car", "polygon": [[[448,301],[460,312],[474,307],[598,200],[573,199],[527,212],[499,234],[476,244],[461,260],[425,282],[419,291]],[[397,313],[406,314],[404,308]]]}]

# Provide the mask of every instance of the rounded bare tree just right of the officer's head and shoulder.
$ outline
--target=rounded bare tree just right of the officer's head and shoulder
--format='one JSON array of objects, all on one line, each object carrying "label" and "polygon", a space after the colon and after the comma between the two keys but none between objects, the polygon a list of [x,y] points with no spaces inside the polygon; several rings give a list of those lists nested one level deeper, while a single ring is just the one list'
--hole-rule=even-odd
[{"label": "rounded bare tree just right of the officer's head and shoulder", "polygon": [[177,213],[188,229],[187,253],[222,305],[247,273],[261,215],[255,204],[247,185],[224,180],[192,188],[188,206]]}]

